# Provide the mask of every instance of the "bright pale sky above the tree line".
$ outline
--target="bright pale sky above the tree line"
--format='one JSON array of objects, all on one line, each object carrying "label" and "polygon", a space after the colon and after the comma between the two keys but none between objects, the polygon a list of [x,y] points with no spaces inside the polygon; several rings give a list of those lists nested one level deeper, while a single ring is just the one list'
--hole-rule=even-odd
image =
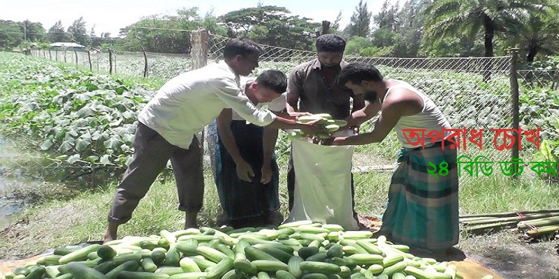
[{"label": "bright pale sky above the tree line", "polygon": [[[342,26],[349,22],[358,0],[261,0],[263,5],[282,6],[294,15],[310,17],[314,21],[333,22],[342,11]],[[369,11],[375,15],[384,0],[365,0]],[[395,3],[395,0],[392,0]],[[214,15],[223,15],[231,10],[255,7],[259,0],[0,0],[0,20],[16,22],[30,20],[41,22],[49,29],[58,20],[64,28],[83,17],[87,30],[95,26],[97,35],[110,32],[116,36],[120,28],[137,22],[140,17],[155,14],[172,15],[180,8],[198,7],[203,15],[213,8]]]}]

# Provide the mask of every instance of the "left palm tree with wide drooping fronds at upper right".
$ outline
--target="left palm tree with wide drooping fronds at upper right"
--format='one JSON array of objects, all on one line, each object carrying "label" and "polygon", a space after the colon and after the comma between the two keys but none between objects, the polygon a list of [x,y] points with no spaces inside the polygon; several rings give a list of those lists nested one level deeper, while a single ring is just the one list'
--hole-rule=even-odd
[{"label": "left palm tree with wide drooping fronds at upper right", "polygon": [[435,0],[426,8],[426,36],[484,32],[485,56],[493,56],[495,33],[518,27],[523,19],[551,6],[549,0]]}]

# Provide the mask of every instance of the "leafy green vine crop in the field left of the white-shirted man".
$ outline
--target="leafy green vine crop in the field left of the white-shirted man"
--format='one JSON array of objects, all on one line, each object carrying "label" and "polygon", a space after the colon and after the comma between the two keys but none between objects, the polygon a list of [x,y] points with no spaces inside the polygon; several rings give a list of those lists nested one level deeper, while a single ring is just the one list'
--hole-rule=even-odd
[{"label": "leafy green vine crop in the field left of the white-shirted man", "polygon": [[126,164],[136,114],[153,91],[40,59],[1,54],[0,60],[10,65],[0,71],[4,134],[28,137],[71,165]]}]

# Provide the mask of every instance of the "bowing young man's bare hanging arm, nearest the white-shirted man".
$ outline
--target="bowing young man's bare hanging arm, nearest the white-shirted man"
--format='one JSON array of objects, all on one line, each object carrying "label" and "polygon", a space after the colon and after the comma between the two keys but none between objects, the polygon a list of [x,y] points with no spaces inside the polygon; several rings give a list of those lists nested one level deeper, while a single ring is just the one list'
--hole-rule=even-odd
[{"label": "bowing young man's bare hanging arm, nearest the white-shirted man", "polygon": [[242,158],[239,149],[237,148],[237,143],[235,142],[235,137],[231,131],[231,119],[233,118],[233,110],[224,109],[222,113],[217,116],[217,133],[219,138],[222,140],[226,151],[231,155],[235,165],[237,167],[237,176],[243,181],[252,181],[254,177],[254,170],[252,167]]}]

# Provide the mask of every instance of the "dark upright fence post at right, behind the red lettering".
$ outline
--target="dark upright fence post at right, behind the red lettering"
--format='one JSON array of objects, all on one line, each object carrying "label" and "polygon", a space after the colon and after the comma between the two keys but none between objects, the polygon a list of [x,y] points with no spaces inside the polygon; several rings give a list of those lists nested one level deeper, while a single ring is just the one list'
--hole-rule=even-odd
[{"label": "dark upright fence post at right, behind the red lettering", "polygon": [[[518,128],[520,126],[519,115],[520,107],[518,100],[518,48],[511,49],[511,62],[510,62],[510,83],[511,83],[511,98],[512,98],[512,129],[516,130],[514,137],[520,140],[520,135],[518,135]],[[512,159],[519,158],[518,144],[513,144],[512,146]],[[512,164],[514,166],[514,178],[516,178],[516,173],[518,173],[518,164]]]}]

